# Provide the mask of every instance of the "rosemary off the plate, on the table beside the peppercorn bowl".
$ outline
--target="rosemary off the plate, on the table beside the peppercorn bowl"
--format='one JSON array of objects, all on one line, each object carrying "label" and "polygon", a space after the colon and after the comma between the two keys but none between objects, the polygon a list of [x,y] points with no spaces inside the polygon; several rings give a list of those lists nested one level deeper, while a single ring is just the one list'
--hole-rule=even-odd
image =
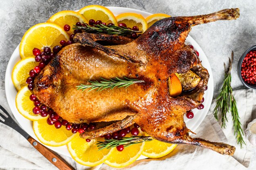
[{"label": "rosemary off the plate, on the table beside the peppercorn bowl", "polygon": [[225,78],[222,88],[220,89],[220,94],[218,95],[216,99],[216,107],[214,108],[214,117],[216,120],[218,120],[218,112],[221,111],[222,114],[222,126],[226,127],[225,121],[227,121],[227,112],[231,112],[233,125],[234,125],[234,136],[236,136],[237,143],[240,144],[241,148],[242,145],[245,144],[245,141],[243,140],[243,129],[241,127],[240,123],[240,117],[238,114],[238,109],[236,106],[236,100],[233,96],[233,89],[231,87],[231,69],[232,69],[232,63],[234,59],[234,53],[232,51],[231,53],[231,59],[229,58],[229,66],[226,68],[226,65],[224,63],[225,68]]}]

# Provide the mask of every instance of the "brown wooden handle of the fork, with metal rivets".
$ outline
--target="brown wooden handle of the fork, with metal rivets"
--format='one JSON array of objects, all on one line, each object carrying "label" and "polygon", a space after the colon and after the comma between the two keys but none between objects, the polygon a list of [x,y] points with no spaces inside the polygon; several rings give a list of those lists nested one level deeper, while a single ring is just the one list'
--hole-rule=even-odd
[{"label": "brown wooden handle of the fork, with metal rivets", "polygon": [[74,170],[64,159],[55,154],[52,150],[49,150],[44,145],[33,139],[31,136],[27,139],[29,143],[36,148],[46,159],[54,164],[60,170]]}]

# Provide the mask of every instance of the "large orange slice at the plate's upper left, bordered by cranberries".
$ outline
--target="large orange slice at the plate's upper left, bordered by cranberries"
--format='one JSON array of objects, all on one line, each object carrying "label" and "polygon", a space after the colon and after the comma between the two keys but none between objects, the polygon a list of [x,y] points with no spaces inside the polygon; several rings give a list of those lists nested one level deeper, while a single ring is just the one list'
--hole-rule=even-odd
[{"label": "large orange slice at the plate's upper left, bordered by cranberries", "polygon": [[29,28],[20,42],[20,57],[33,56],[32,50],[45,47],[51,49],[60,45],[61,40],[69,40],[69,35],[63,28],[53,23],[40,23]]}]

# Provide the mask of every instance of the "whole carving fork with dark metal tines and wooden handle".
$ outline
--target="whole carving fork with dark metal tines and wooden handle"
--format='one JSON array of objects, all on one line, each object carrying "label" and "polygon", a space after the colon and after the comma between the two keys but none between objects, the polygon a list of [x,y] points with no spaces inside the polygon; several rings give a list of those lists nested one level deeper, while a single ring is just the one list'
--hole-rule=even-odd
[{"label": "whole carving fork with dark metal tines and wooden handle", "polygon": [[[72,166],[70,166],[65,160],[59,157],[55,152],[49,150],[44,145],[40,144],[38,141],[33,139],[27,132],[25,132],[20,126],[11,118],[10,114],[0,105],[0,110],[3,113],[0,113],[0,122],[5,125],[13,128],[17,132],[19,132],[22,136],[24,136],[29,143],[36,148],[46,159],[48,159],[54,166],[59,168],[60,170],[74,170]],[[1,116],[2,115],[2,116]]]}]

